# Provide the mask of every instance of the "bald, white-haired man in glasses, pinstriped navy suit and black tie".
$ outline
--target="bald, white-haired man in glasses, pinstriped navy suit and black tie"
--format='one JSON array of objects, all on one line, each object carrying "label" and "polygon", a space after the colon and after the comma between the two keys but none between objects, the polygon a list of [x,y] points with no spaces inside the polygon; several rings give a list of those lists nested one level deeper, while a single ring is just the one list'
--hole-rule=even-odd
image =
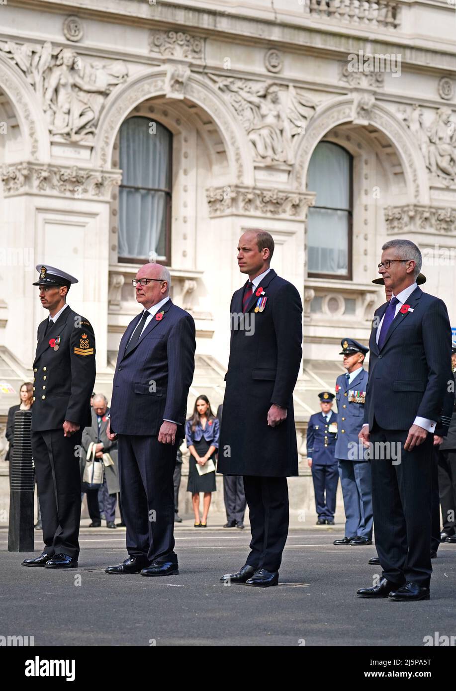
[{"label": "bald, white-haired man in glasses, pinstriped navy suit and black tie", "polygon": [[144,310],[120,341],[108,438],[118,436],[129,558],[107,574],[178,573],[173,473],[195,368],[195,323],[171,302],[169,271],[145,264],[132,281]]}]

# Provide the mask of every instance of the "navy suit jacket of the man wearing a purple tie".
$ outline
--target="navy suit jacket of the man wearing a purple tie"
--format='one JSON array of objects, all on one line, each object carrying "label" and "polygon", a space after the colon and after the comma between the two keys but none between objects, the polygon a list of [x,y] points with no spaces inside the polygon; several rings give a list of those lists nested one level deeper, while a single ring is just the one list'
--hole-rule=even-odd
[{"label": "navy suit jacket of the man wearing a purple tie", "polygon": [[450,378],[448,312],[443,301],[418,286],[407,302],[413,312],[398,312],[381,350],[377,328],[388,303],[375,311],[364,416],[370,429],[374,416],[388,430],[409,430],[417,416],[439,424]]}]

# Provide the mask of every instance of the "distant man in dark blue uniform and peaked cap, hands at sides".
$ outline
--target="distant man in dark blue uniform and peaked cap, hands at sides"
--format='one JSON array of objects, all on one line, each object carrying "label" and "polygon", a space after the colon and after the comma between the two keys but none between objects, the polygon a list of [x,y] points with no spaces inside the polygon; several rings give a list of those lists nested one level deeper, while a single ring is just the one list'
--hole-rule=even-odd
[{"label": "distant man in dark blue uniform and peaked cap, hands at sides", "polygon": [[319,399],[321,413],[311,415],[307,426],[307,463],[312,468],[314,480],[316,513],[319,517],[316,524],[334,525],[339,482],[339,470],[334,457],[337,413],[331,410],[333,393],[322,391]]}]

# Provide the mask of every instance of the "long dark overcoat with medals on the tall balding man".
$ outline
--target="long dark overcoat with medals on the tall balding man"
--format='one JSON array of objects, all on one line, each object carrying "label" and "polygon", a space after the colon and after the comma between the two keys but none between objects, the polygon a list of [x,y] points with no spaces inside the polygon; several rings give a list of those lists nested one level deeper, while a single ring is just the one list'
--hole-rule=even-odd
[{"label": "long dark overcoat with medals on the tall balding man", "polygon": [[[267,297],[265,309],[254,312],[255,291],[247,303],[245,323],[244,286],[231,298],[218,472],[289,477],[298,475],[293,390],[303,354],[303,305],[294,285],[277,276],[274,269],[261,279],[259,287]],[[267,424],[273,403],[287,408],[287,417],[276,427]]]}]

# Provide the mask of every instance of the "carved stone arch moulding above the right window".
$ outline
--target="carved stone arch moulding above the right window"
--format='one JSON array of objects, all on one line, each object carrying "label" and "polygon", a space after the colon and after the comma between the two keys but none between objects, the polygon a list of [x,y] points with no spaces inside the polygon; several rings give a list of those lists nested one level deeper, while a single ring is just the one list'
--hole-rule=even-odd
[{"label": "carved stone arch moulding above the right window", "polygon": [[359,103],[360,100],[352,95],[344,96],[324,104],[316,111],[296,153],[292,177],[294,189],[305,190],[310,158],[325,134],[336,125],[353,122],[364,126],[374,126],[386,135],[397,151],[410,202],[428,203],[429,184],[426,165],[410,131],[385,106],[371,101],[368,108],[360,111]]}]

